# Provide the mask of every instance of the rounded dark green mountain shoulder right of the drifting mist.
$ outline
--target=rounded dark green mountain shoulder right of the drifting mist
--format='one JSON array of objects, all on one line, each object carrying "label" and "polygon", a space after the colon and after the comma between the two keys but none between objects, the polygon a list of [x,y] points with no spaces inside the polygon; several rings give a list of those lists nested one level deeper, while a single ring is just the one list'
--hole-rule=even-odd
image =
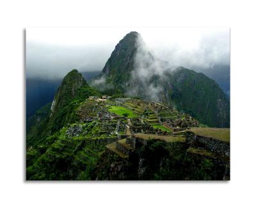
[{"label": "rounded dark green mountain shoulder right of the drifting mist", "polygon": [[229,102],[215,81],[202,73],[179,68],[170,76],[170,83],[170,98],[179,111],[211,127],[229,127]]}]

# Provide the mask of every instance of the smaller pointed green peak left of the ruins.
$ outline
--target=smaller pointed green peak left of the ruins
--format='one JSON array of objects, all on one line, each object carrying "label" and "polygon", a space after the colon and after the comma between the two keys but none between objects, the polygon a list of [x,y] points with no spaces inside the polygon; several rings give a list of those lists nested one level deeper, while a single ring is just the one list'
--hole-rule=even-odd
[{"label": "smaller pointed green peak left of the ruins", "polygon": [[[64,77],[58,88],[51,108],[49,104],[43,106],[27,120],[27,146],[40,143],[47,136],[59,131],[63,126],[77,121],[76,109],[81,102],[90,95],[100,95],[97,90],[91,88],[83,76],[76,70],[72,70]],[[44,112],[42,116],[42,112]]]}]

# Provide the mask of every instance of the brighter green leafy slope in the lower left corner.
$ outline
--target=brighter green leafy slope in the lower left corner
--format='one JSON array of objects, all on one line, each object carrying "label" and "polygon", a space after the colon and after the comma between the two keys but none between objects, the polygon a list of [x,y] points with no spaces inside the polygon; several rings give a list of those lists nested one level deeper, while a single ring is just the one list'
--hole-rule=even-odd
[{"label": "brighter green leafy slope in the lower left corner", "polygon": [[86,144],[84,138],[70,139],[67,128],[46,138],[27,154],[28,180],[94,180],[97,159],[104,145]]}]

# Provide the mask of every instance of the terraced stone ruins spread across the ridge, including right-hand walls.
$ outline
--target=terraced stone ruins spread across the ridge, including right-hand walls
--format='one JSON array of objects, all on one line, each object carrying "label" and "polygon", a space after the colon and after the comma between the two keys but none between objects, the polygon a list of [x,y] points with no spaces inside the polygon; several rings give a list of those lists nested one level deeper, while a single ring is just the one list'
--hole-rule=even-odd
[{"label": "terraced stone ruins spread across the ridge, including right-hand walls", "polygon": [[[111,113],[110,106],[122,106],[136,116],[127,118]],[[221,177],[230,179],[229,129],[199,127],[195,118],[170,106],[138,99],[106,103],[90,97],[79,108],[78,115],[82,123],[68,127],[68,138],[83,136],[86,144],[105,144],[109,154],[122,159],[129,159],[141,145],[147,146],[148,141],[163,141],[172,154],[189,156],[196,163],[211,159],[222,170]]]}]

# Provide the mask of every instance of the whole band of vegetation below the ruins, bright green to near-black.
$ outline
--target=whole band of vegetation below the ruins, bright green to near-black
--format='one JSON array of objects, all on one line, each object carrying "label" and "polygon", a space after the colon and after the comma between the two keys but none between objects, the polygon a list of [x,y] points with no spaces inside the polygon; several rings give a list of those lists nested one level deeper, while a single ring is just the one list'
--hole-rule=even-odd
[{"label": "whole band of vegetation below the ruins, bright green to near-black", "polygon": [[[95,124],[84,131],[93,132]],[[186,154],[183,144],[148,140],[128,159],[106,152],[88,138],[68,138],[61,129],[27,152],[28,180],[221,180],[223,166]]]}]

